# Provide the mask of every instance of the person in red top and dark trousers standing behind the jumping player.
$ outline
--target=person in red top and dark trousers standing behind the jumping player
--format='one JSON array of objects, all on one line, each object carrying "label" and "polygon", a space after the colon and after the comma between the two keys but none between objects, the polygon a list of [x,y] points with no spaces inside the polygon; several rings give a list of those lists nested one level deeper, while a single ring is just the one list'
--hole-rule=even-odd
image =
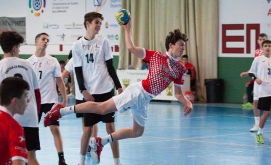
[{"label": "person in red top and dark trousers standing behind the jumping player", "polygon": [[181,61],[186,68],[186,74],[190,75],[190,88],[191,91],[196,91],[196,71],[192,63],[188,62],[188,55],[184,54],[181,57]]}]

